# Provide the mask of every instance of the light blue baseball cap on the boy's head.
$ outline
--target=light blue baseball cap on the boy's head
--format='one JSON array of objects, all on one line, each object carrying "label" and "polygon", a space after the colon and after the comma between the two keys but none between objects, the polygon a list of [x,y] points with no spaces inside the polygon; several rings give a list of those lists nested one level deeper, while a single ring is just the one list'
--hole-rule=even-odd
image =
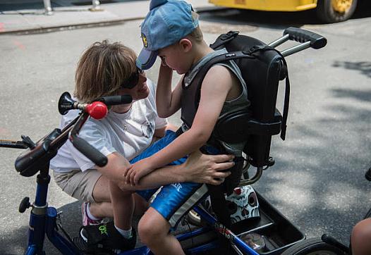
[{"label": "light blue baseball cap on the boy's head", "polygon": [[192,11],[192,6],[182,0],[150,2],[150,12],[140,28],[143,49],[136,61],[138,68],[151,68],[159,49],[178,42],[195,30],[198,20],[192,17]]}]

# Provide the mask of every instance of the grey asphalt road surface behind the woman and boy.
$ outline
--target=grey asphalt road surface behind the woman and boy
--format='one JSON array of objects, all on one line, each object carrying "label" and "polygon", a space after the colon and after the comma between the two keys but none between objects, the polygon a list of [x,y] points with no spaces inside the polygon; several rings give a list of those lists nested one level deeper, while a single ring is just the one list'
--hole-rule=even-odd
[{"label": "grey asphalt road surface behind the woman and boy", "polygon": [[[205,40],[221,32],[272,42],[288,26],[327,37],[324,49],[288,56],[291,106],[286,141],[274,137],[276,164],[254,187],[307,235],[324,232],[348,244],[352,226],[370,207],[371,167],[371,8],[358,10],[344,23],[320,24],[306,13],[226,11],[202,13]],[[73,91],[74,70],[92,42],[121,41],[140,51],[140,20],[109,27],[33,35],[0,36],[0,139],[39,139],[59,125],[57,101]],[[288,45],[291,45],[288,43]],[[279,48],[281,49],[281,48]],[[159,63],[147,72],[157,80]],[[282,106],[284,85],[279,89]],[[180,124],[178,114],[171,121]],[[35,196],[35,176],[14,170],[20,151],[0,149],[0,254],[22,254],[27,242],[28,213],[18,213],[20,200]],[[76,235],[80,204],[53,181],[49,205],[63,211],[63,225]],[[47,254],[56,254],[47,242]]]}]

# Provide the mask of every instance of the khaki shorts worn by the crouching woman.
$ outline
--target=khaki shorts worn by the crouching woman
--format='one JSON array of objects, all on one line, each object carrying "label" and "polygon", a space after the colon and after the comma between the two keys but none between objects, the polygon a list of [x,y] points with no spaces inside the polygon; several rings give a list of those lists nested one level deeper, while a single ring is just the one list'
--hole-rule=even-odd
[{"label": "khaki shorts worn by the crouching woman", "polygon": [[53,170],[53,176],[56,184],[71,197],[79,201],[96,202],[92,192],[102,173],[94,169],[84,172],[80,169],[71,170],[67,173],[58,173]]}]

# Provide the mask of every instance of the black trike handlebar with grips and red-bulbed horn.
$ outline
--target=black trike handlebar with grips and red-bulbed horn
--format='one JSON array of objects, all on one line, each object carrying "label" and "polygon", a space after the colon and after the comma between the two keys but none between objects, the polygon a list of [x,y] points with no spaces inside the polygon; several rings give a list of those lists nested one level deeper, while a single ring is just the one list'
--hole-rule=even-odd
[{"label": "black trike handlebar with grips and red-bulbed horn", "polygon": [[[62,94],[59,99],[59,110],[64,114],[67,111],[75,108],[77,105],[80,107],[82,112],[78,117],[71,121],[63,130],[55,129],[49,135],[43,137],[36,143],[35,147],[28,146],[27,142],[4,142],[0,143],[0,147],[12,147],[12,148],[22,148],[26,149],[28,146],[28,151],[21,154],[16,158],[15,168],[20,173],[20,175],[29,177],[35,175],[39,170],[44,168],[49,168],[49,161],[51,158],[56,156],[58,149],[66,142],[67,139],[70,139],[73,146],[81,151],[87,158],[94,162],[97,166],[105,166],[108,162],[106,156],[104,156],[100,151],[92,147],[88,142],[83,138],[78,137],[78,132],[85,124],[85,121],[89,116],[94,117],[93,115],[98,116],[99,118],[104,118],[102,114],[102,108],[107,110],[107,105],[116,105],[116,104],[128,104],[132,101],[132,98],[129,95],[124,96],[114,96],[114,97],[102,97],[92,104],[80,104],[71,99],[71,96],[68,92]],[[99,103],[99,104],[95,104]],[[61,107],[61,104],[63,106]],[[98,106],[98,107],[93,107]],[[77,108],[77,107],[76,107]],[[98,110],[97,110],[98,109]],[[98,113],[97,113],[97,112]],[[97,113],[97,114],[96,114]],[[20,146],[22,145],[22,146]]]}]

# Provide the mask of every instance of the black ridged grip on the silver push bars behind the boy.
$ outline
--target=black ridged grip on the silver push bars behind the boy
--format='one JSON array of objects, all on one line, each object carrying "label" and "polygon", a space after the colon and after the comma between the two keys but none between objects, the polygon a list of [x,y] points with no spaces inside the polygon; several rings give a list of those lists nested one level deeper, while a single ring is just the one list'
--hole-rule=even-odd
[{"label": "black ridged grip on the silver push bars behind the boy", "polygon": [[310,42],[310,47],[313,49],[321,49],[327,44],[327,39],[322,37],[322,35],[298,27],[286,28],[284,35],[288,35],[288,39],[296,42]]}]

